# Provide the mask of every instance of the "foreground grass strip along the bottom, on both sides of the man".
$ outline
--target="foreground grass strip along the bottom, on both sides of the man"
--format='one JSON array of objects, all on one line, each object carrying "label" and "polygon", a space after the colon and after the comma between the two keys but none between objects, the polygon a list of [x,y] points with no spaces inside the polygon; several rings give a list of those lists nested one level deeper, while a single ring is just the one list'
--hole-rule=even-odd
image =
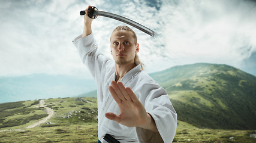
[{"label": "foreground grass strip along the bottom, on both sides of the man", "polygon": [[[83,123],[26,129],[26,131],[0,132],[0,142],[97,142],[98,123]],[[250,130],[199,129],[185,122],[178,122],[173,142],[256,142],[249,137]],[[230,137],[233,136],[234,140]]]}]

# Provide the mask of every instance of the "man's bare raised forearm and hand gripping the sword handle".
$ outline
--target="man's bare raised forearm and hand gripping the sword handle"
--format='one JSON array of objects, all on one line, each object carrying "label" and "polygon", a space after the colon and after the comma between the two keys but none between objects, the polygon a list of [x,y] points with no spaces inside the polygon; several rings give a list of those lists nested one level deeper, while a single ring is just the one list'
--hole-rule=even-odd
[{"label": "man's bare raised forearm and hand gripping the sword handle", "polygon": [[[88,6],[88,8],[91,7],[91,5]],[[88,11],[88,8],[86,8],[85,10],[85,16],[83,17],[84,18],[84,23],[83,23],[83,35],[82,37],[85,37],[85,36],[88,36],[92,33],[92,18],[88,17],[88,14],[87,14],[87,11]]]}]

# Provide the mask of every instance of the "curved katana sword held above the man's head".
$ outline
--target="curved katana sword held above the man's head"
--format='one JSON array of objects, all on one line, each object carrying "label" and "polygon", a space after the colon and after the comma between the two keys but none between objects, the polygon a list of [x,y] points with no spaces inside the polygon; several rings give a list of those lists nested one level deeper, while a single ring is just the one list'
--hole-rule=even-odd
[{"label": "curved katana sword held above the man's head", "polygon": [[[140,23],[137,23],[133,20],[130,20],[128,18],[122,17],[120,15],[116,15],[113,13],[107,13],[105,11],[99,11],[98,8],[96,7],[89,7],[88,8],[88,17],[95,19],[99,16],[103,16],[103,17],[109,17],[109,18],[113,18],[115,20],[119,20],[122,21],[124,23],[127,23],[135,28],[137,28],[138,30],[141,30],[144,33],[147,33],[148,35],[152,36],[153,38],[156,38],[155,32],[153,32],[153,30],[150,30],[149,28],[141,25]],[[80,15],[85,15],[85,11],[80,11]]]}]

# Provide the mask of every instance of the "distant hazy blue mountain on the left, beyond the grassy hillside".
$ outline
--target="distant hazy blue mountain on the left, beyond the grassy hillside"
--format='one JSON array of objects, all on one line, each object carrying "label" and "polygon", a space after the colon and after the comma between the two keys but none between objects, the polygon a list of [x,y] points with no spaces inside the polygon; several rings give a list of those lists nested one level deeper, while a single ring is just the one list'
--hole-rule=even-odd
[{"label": "distant hazy blue mountain on the left, beyond the grassy hillside", "polygon": [[97,89],[95,81],[75,76],[31,74],[0,77],[0,103],[74,97]]}]

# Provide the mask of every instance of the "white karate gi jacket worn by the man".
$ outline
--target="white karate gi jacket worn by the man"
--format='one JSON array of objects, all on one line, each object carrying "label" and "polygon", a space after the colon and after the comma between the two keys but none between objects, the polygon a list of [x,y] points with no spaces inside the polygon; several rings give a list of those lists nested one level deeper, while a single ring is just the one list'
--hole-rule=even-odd
[{"label": "white karate gi jacket worn by the man", "polygon": [[159,133],[142,128],[129,128],[105,117],[112,112],[119,115],[119,107],[109,92],[110,83],[116,79],[115,61],[104,55],[95,41],[93,33],[73,41],[83,63],[91,71],[97,83],[98,99],[98,138],[102,143],[106,133],[119,142],[172,142],[177,128],[177,114],[168,98],[167,92],[155,82],[140,64],[128,71],[120,80],[132,89],[147,113],[155,120]]}]

